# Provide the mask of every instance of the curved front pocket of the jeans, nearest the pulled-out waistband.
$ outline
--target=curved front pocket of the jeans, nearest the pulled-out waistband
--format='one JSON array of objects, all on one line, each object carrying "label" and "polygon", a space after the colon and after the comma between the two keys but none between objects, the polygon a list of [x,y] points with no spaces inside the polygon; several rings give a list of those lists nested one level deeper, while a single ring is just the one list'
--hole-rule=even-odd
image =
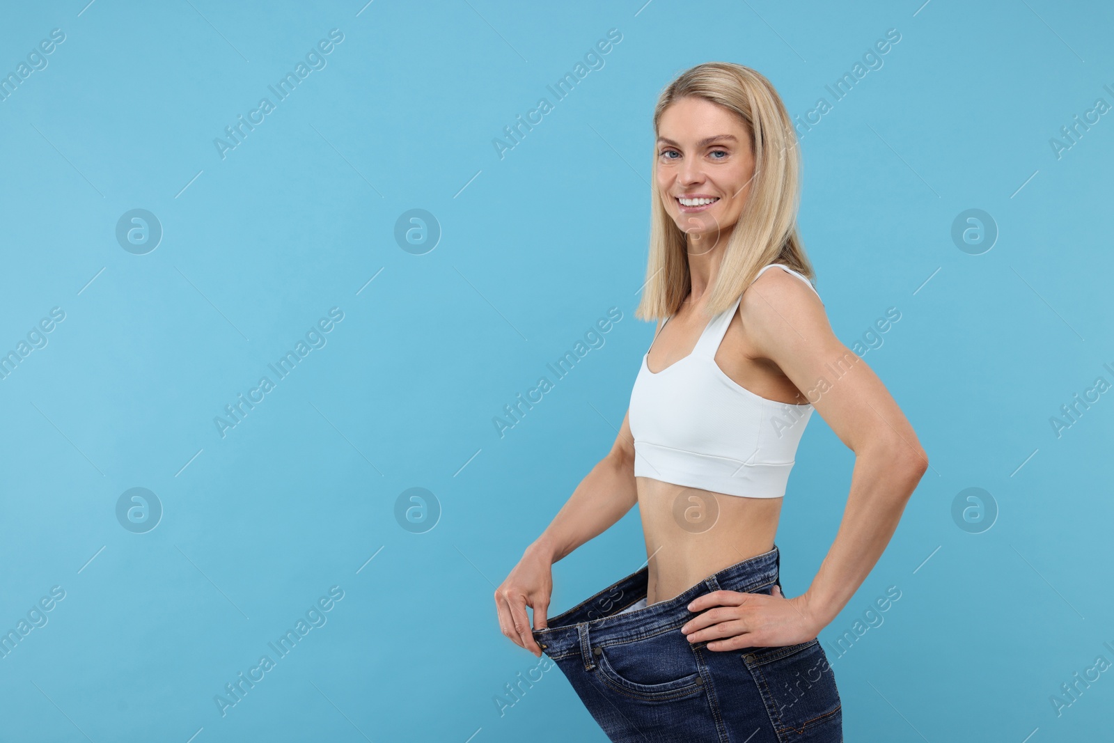
[{"label": "curved front pocket of the jeans, nearest the pulled-out waistband", "polygon": [[604,681],[631,696],[675,698],[701,691],[703,684],[696,655],[680,628],[592,652]]}]

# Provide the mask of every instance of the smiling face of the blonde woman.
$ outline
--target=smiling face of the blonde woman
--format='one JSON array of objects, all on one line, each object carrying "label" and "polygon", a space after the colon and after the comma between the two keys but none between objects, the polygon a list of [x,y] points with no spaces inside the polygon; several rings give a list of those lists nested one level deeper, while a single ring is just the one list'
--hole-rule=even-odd
[{"label": "smiling face of the blonde woman", "polygon": [[691,248],[710,239],[697,252],[711,250],[734,227],[750,193],[750,131],[726,108],[688,97],[665,109],[657,134],[657,189],[665,211],[688,235]]}]

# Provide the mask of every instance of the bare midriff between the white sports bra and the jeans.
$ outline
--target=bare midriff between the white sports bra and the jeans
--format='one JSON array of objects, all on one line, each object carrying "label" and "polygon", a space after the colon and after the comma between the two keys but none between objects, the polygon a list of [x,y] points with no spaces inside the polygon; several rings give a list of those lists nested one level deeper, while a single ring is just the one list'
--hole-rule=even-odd
[{"label": "bare midriff between the white sports bra and the jeans", "polygon": [[635,478],[646,539],[646,604],[773,549],[781,498],[745,498]]}]

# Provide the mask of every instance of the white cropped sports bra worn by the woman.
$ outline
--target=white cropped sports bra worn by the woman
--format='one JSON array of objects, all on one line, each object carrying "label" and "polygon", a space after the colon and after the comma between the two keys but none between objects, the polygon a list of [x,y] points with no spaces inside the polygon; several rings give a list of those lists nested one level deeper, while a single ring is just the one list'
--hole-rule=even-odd
[{"label": "white cropped sports bra worn by the woman", "polygon": [[[808,278],[780,263],[764,266],[754,277],[772,266],[784,268],[815,292]],[[712,317],[684,359],[655,373],[646,363],[649,351],[642,358],[629,408],[635,477],[730,496],[785,495],[797,444],[813,408],[808,402],[790,404],[759,397],[715,363],[715,352],[742,299]]]}]

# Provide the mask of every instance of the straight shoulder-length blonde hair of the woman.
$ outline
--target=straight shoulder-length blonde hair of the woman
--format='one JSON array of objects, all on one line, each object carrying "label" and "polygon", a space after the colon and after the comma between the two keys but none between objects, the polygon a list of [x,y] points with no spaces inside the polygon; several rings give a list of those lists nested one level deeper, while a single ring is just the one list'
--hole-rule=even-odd
[{"label": "straight shoulder-length blonde hair of the woman", "polygon": [[703,98],[735,114],[745,125],[754,151],[754,176],[746,203],[731,232],[705,312],[714,315],[735,299],[770,263],[814,280],[797,233],[800,203],[800,149],[785,105],[773,85],[755,70],[733,62],[706,62],[671,82],[654,108],[654,157],[651,186],[649,257],[641,320],[674,314],[691,289],[686,235],[670,217],[657,189],[657,134],[662,115],[682,98]]}]

